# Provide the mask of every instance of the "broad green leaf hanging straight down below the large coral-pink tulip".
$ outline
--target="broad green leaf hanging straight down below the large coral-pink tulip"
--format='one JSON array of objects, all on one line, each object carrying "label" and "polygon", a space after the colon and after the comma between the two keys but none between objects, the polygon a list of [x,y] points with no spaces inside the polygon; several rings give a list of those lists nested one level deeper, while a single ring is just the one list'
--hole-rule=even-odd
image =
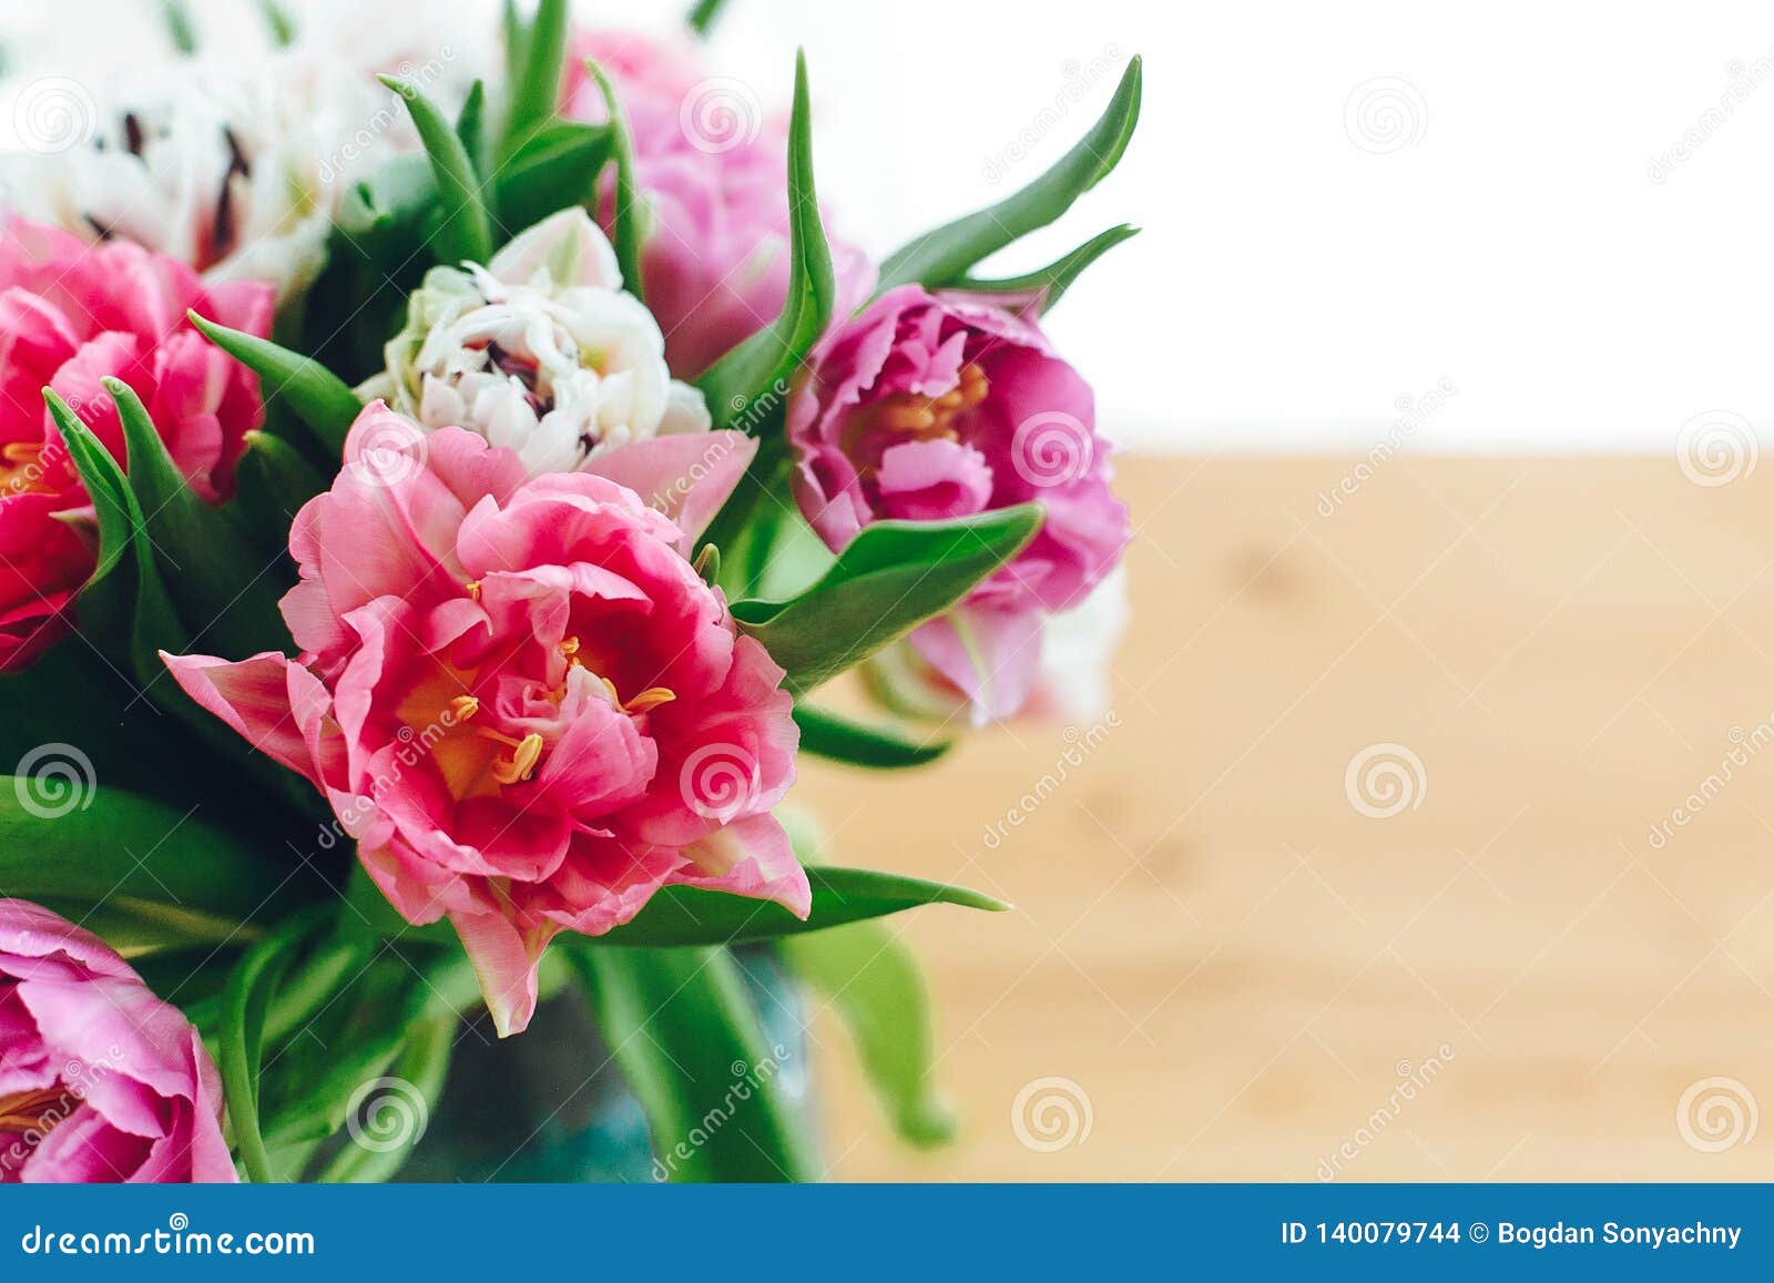
[{"label": "broad green leaf hanging straight down below the large coral-pink tulip", "polygon": [[722,949],[573,949],[591,1008],[672,1180],[777,1182],[818,1175],[745,981]]}]

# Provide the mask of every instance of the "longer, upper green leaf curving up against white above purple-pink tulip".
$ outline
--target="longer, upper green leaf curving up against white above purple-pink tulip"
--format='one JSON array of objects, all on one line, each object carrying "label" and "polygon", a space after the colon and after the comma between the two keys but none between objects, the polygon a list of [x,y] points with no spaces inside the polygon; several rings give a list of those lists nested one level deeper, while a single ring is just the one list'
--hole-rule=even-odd
[{"label": "longer, upper green leaf curving up against white above purple-pink tulip", "polygon": [[981,259],[1066,213],[1121,160],[1139,121],[1139,94],[1141,60],[1135,57],[1126,64],[1107,110],[1071,151],[995,206],[956,218],[899,248],[882,264],[880,291],[912,280],[931,289],[953,286]]}]

